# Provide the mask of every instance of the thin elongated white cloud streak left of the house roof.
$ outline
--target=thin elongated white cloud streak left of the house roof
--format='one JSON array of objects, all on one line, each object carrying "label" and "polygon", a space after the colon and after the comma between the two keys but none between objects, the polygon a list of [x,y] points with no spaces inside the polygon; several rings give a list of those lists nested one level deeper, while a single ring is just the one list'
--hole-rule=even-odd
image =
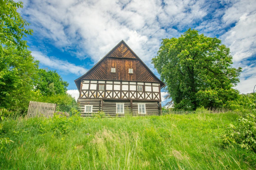
[{"label": "thin elongated white cloud streak left of the house roof", "polygon": [[54,57],[47,57],[40,51],[32,51],[31,54],[35,59],[39,60],[42,65],[45,65],[49,68],[53,68],[56,70],[64,71],[65,73],[72,73],[76,75],[82,75],[87,72],[87,70],[83,67],[74,65],[67,61],[56,59]]}]

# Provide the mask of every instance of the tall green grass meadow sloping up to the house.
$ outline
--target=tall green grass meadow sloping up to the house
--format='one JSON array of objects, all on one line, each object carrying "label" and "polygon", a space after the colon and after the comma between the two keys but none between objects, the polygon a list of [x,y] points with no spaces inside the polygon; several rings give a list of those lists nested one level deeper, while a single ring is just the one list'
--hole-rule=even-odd
[{"label": "tall green grass meadow sloping up to the house", "polygon": [[14,141],[0,169],[255,169],[256,154],[224,147],[221,134],[238,113],[124,118],[18,119],[3,122]]}]

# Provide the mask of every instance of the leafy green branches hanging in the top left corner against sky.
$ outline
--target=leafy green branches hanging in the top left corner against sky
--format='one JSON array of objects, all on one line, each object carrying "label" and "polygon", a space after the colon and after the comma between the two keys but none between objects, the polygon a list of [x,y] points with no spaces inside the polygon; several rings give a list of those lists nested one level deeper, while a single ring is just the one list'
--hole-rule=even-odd
[{"label": "leafy green branches hanging in the top left corner against sky", "polygon": [[13,0],[0,0],[0,52],[4,46],[15,45],[18,50],[27,47],[26,41],[22,40],[26,34],[31,35],[32,29],[26,29],[29,25],[17,12],[17,8],[23,8],[22,2]]}]

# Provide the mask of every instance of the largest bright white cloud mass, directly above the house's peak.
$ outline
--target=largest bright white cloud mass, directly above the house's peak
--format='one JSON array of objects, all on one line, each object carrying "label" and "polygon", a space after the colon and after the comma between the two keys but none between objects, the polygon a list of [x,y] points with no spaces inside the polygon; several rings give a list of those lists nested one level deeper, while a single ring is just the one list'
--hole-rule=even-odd
[{"label": "largest bright white cloud mass, directly above the house's peak", "polygon": [[125,40],[146,63],[156,55],[162,38],[177,35],[170,27],[183,30],[206,15],[204,0],[25,0],[21,12],[42,40],[47,38],[79,59],[89,56],[97,62]]}]

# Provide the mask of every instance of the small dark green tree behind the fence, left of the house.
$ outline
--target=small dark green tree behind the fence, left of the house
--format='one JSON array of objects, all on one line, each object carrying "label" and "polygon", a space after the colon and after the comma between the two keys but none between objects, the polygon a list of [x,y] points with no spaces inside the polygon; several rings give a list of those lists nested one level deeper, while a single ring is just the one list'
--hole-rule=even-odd
[{"label": "small dark green tree behind the fence, left of the house", "polygon": [[35,90],[39,90],[44,96],[66,93],[68,82],[64,81],[56,71],[39,69],[38,76]]}]

